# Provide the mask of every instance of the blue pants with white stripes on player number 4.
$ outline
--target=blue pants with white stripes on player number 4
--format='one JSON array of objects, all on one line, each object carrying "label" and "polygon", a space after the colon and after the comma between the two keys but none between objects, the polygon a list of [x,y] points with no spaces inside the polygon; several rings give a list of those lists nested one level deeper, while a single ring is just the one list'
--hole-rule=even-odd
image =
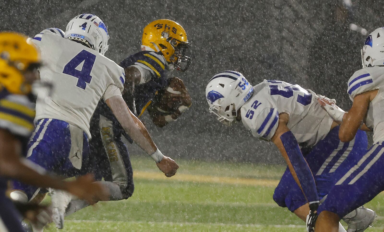
[{"label": "blue pants with white stripes on player number 4", "polygon": [[[40,119],[27,149],[26,159],[64,178],[84,174],[82,167],[88,165],[86,134],[80,128],[58,119]],[[25,192],[28,199],[40,190],[18,181],[13,183],[13,187]]]}]

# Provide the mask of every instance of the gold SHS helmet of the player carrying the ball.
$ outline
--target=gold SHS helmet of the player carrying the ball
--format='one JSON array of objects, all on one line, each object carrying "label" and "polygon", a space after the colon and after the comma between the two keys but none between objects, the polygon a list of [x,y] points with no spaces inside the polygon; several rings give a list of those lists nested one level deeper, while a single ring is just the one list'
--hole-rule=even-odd
[{"label": "gold SHS helmet of the player carrying the ball", "polygon": [[149,23],[143,30],[141,44],[141,50],[161,51],[171,69],[173,66],[184,72],[192,60],[185,56],[190,43],[184,28],[169,19],[159,19]]}]

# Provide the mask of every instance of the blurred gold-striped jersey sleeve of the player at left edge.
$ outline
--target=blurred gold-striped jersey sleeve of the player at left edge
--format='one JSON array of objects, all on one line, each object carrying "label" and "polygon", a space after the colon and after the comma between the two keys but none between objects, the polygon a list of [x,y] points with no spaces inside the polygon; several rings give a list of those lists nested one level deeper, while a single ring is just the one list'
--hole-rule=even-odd
[{"label": "blurred gold-striped jersey sleeve of the player at left edge", "polygon": [[29,138],[35,118],[35,104],[25,95],[0,91],[0,128],[15,136]]}]

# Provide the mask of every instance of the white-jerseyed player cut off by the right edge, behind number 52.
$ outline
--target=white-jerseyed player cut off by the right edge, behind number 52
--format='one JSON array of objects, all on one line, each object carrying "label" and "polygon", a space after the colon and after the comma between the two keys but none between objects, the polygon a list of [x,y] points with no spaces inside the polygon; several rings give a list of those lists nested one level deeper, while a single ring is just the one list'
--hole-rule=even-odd
[{"label": "white-jerseyed player cut off by the right edge, behind number 52", "polygon": [[363,68],[348,81],[348,95],[353,101],[348,113],[328,101],[321,103],[330,116],[342,121],[339,131],[342,141],[353,139],[363,126],[373,131],[374,144],[329,191],[319,207],[316,232],[336,231],[343,215],[384,191],[384,28],[377,28],[367,37],[361,58]]}]

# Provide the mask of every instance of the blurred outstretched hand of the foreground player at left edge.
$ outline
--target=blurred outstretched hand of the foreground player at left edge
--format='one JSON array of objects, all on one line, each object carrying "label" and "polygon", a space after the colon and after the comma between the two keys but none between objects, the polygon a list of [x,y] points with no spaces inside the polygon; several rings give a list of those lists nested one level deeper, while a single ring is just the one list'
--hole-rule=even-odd
[{"label": "blurred outstretched hand of the foreground player at left edge", "polygon": [[75,181],[68,183],[67,191],[80,199],[88,201],[89,204],[108,201],[108,190],[94,181],[92,174],[78,177]]}]

